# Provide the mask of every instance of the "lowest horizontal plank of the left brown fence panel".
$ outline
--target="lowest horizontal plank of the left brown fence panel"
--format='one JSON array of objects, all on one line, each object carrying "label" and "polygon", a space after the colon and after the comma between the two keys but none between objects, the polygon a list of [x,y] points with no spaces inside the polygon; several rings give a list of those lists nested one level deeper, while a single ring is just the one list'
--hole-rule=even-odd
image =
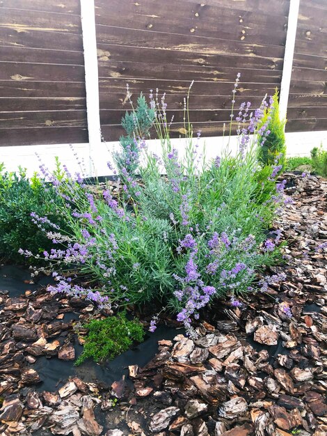
[{"label": "lowest horizontal plank of the left brown fence panel", "polygon": [[0,146],[86,142],[88,142],[88,131],[85,127],[0,129]]}]

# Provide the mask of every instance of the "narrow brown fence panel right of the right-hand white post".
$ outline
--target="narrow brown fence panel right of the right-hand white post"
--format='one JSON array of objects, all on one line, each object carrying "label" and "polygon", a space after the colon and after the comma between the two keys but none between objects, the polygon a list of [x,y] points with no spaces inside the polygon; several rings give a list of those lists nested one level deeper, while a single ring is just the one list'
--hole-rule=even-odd
[{"label": "narrow brown fence panel right of the right-hand white post", "polygon": [[326,0],[300,2],[287,132],[327,130],[326,22]]}]

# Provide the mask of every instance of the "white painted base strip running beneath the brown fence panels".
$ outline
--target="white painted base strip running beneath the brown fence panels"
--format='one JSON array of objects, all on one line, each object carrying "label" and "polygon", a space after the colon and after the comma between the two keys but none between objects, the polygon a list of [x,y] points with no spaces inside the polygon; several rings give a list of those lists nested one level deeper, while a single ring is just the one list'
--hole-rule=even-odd
[{"label": "white painted base strip running beneath the brown fence panels", "polygon": [[[288,156],[309,156],[310,150],[319,147],[322,143],[327,149],[327,131],[321,132],[296,132],[287,133],[287,155]],[[147,141],[150,150],[160,154],[160,143],[157,140]],[[227,146],[228,139],[222,137],[210,137],[200,139],[200,150],[205,143],[205,155],[207,159],[212,159],[221,155],[222,150]],[[74,156],[69,144],[40,145],[40,146],[13,146],[0,148],[0,163],[3,162],[8,171],[17,171],[18,166],[26,168],[27,174],[31,176],[35,171],[39,171],[39,162],[35,153],[40,156],[42,162],[50,170],[54,169],[54,158],[58,156],[60,162],[65,164],[71,173],[81,173],[81,166],[78,161],[84,162],[85,176],[110,176],[106,162],[111,160],[111,152],[118,147],[118,142],[101,143],[97,148],[93,148],[93,171],[90,172],[89,166],[89,144],[73,144]],[[183,139],[174,139],[174,146],[182,153],[184,149]],[[237,137],[232,137],[230,141],[231,150],[237,146]]]}]

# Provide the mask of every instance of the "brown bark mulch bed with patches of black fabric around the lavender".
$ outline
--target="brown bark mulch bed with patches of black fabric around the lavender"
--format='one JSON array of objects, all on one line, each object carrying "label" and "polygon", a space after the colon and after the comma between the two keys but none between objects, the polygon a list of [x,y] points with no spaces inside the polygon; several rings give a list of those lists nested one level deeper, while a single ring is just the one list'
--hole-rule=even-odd
[{"label": "brown bark mulch bed with patches of black fabric around the lavender", "polygon": [[3,268],[18,280],[1,277],[1,434],[325,435],[327,182],[283,178],[288,246],[267,273],[286,280],[237,306],[216,301],[194,340],[161,325],[108,364],[75,367],[73,322],[95,306]]}]

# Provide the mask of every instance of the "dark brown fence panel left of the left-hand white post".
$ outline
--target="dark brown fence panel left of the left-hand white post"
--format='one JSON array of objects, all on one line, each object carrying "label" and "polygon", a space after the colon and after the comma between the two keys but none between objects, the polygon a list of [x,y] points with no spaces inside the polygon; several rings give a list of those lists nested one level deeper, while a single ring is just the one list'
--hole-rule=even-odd
[{"label": "dark brown fence panel left of the left-hand white post", "polygon": [[1,0],[0,146],[88,141],[79,0]]}]

